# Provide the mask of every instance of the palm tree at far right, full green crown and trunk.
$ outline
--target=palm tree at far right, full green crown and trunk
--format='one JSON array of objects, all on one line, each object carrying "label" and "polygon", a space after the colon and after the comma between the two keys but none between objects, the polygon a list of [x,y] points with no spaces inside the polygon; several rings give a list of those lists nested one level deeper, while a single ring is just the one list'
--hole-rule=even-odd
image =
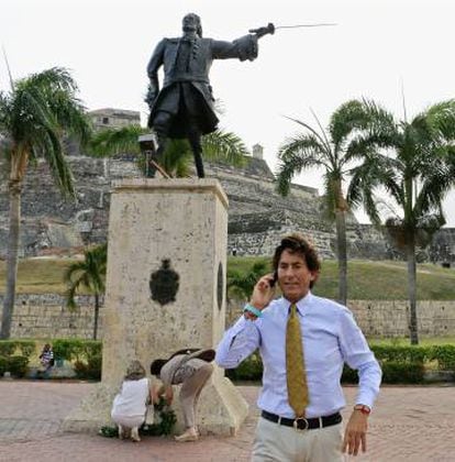
[{"label": "palm tree at far right, full green crown and trunk", "polygon": [[415,251],[445,223],[441,202],[455,185],[455,100],[431,106],[410,122],[396,121],[374,101],[353,103],[360,108],[365,129],[353,148],[362,163],[352,172],[348,200],[363,205],[378,224],[378,189],[385,189],[400,209],[385,227],[408,262],[410,338],[418,344]]}]

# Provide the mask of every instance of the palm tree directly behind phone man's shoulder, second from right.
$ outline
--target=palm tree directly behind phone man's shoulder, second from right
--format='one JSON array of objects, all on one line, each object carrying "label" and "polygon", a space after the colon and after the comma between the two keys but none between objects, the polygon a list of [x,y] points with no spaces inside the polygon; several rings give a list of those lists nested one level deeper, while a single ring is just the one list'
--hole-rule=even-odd
[{"label": "palm tree directly behind phone man's shoulder, second from right", "polygon": [[339,300],[347,299],[347,244],[346,212],[348,206],[343,194],[343,182],[351,161],[352,134],[359,128],[358,107],[342,105],[331,117],[329,130],[324,130],[314,116],[318,129],[300,120],[290,119],[303,128],[303,132],[288,139],[279,148],[280,164],[277,188],[282,196],[290,190],[292,177],[309,168],[324,170],[324,201],[328,218],[335,220],[339,261]]}]

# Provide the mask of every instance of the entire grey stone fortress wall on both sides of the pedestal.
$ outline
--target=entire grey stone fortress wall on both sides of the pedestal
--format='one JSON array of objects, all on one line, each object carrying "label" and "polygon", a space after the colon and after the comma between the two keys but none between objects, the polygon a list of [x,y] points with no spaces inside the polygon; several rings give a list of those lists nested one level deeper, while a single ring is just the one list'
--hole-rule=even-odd
[{"label": "entire grey stone fortress wall on both sides of the pedestal", "polygon": [[[335,228],[323,218],[318,190],[293,185],[282,198],[267,164],[257,157],[248,160],[242,168],[207,163],[207,175],[220,180],[230,200],[230,253],[269,255],[284,234],[300,231],[315,242],[322,257],[334,258]],[[77,154],[69,163],[77,184],[76,201],[60,197],[45,163],[29,169],[22,195],[21,256],[64,253],[104,242],[111,182],[142,176],[131,155],[92,158]],[[8,168],[0,162],[0,258],[7,252],[8,209]],[[354,216],[347,218],[347,238],[349,258],[399,257],[381,232],[357,223]],[[422,258],[454,263],[455,229],[441,230]]]}]

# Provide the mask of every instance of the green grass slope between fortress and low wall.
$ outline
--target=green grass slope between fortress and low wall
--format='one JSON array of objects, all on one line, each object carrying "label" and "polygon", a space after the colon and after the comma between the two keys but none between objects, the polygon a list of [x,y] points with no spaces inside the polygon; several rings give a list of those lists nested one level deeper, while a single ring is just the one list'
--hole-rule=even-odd
[{"label": "green grass slope between fortress and low wall", "polygon": [[[228,272],[247,272],[265,257],[230,257]],[[22,260],[18,271],[18,294],[64,294],[63,273],[69,258]],[[4,294],[5,263],[0,262],[0,293]],[[348,262],[348,298],[357,300],[406,300],[408,273],[404,262]],[[337,265],[324,261],[314,293],[336,298],[339,290]],[[432,264],[418,265],[418,298],[421,300],[455,300],[455,271]]]}]

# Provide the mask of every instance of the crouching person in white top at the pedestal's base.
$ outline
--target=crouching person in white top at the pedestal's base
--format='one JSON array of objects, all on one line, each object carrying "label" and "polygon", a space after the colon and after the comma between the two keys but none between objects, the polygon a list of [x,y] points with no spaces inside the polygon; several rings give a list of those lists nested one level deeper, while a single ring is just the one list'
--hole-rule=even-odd
[{"label": "crouching person in white top at the pedestal's base", "polygon": [[141,441],[138,429],[145,421],[147,403],[155,403],[151,381],[143,365],[134,360],[130,363],[120,393],[112,405],[111,417],[119,428],[119,438]]}]

